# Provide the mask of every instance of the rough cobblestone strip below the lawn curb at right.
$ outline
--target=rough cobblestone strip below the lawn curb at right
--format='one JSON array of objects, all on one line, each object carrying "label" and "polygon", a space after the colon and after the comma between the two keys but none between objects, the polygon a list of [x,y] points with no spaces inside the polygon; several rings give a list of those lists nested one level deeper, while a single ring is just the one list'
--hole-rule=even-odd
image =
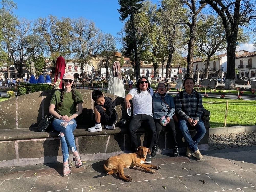
[{"label": "rough cobblestone strip below the lawn curb at right", "polygon": [[209,146],[211,149],[226,149],[239,147],[255,147],[256,133],[231,133],[228,135],[210,135]]}]

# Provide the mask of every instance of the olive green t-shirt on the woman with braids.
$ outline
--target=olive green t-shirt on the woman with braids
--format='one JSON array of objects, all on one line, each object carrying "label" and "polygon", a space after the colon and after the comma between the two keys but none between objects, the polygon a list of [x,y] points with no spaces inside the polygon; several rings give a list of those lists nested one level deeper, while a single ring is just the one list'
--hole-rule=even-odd
[{"label": "olive green t-shirt on the woman with braids", "polygon": [[[58,103],[60,103],[60,94],[61,90],[55,91],[52,95],[50,104],[54,104],[57,108],[57,112],[60,115],[67,115],[70,117],[74,113],[77,112],[77,105],[74,103],[74,100],[72,99],[72,91],[66,93],[64,92],[63,102],[62,106],[59,106]],[[75,98],[76,103],[83,103],[82,95],[79,91],[75,90]]]}]

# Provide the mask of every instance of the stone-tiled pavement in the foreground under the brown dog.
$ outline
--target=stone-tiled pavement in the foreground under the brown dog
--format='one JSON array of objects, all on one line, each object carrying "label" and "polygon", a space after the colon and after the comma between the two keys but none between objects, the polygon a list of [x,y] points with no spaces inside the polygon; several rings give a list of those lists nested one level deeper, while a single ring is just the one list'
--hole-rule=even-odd
[{"label": "stone-tiled pavement in the foreground under the brown dog", "polygon": [[[134,182],[106,175],[105,160],[71,166],[71,175],[61,177],[62,164],[0,168],[0,191],[19,192],[95,192],[95,191],[171,191],[171,192],[250,192],[256,190],[256,147],[201,151],[197,161],[185,154],[174,158],[157,155],[152,164],[161,170],[150,174],[141,168],[124,169]],[[166,189],[164,189],[164,187]]]}]

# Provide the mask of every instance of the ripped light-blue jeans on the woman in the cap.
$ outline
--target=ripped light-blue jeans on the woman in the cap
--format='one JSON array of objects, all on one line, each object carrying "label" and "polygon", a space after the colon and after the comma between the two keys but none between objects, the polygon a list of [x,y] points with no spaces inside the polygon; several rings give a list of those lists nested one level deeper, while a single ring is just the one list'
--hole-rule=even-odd
[{"label": "ripped light-blue jeans on the woman in the cap", "polygon": [[59,131],[60,134],[64,134],[62,136],[60,135],[60,141],[63,154],[63,162],[66,162],[68,161],[69,148],[72,152],[77,150],[75,145],[75,138],[73,135],[73,131],[77,127],[77,122],[75,119],[71,119],[69,122],[55,119],[52,122],[52,126],[54,130]]}]

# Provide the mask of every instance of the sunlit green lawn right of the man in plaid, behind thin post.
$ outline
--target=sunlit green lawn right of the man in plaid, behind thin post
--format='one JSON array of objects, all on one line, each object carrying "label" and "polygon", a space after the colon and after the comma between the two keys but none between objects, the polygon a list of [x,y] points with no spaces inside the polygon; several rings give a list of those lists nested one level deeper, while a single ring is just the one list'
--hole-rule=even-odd
[{"label": "sunlit green lawn right of the man in plaid, behind thin post", "polygon": [[[202,98],[204,108],[211,112],[211,127],[223,127],[226,113],[226,101],[228,101],[228,113],[226,127],[240,125],[255,125],[256,101]],[[224,102],[219,102],[224,101]],[[215,102],[215,103],[209,103]]]}]

